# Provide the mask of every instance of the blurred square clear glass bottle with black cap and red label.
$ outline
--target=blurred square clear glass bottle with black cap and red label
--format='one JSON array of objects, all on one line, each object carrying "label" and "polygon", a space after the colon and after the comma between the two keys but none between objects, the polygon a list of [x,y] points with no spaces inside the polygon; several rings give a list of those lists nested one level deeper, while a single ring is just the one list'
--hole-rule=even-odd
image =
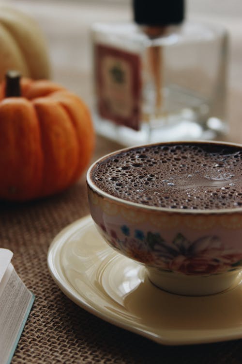
[{"label": "blurred square clear glass bottle with black cap and red label", "polygon": [[134,22],[92,26],[96,131],[124,146],[227,132],[227,31],[184,0],[134,0]]}]

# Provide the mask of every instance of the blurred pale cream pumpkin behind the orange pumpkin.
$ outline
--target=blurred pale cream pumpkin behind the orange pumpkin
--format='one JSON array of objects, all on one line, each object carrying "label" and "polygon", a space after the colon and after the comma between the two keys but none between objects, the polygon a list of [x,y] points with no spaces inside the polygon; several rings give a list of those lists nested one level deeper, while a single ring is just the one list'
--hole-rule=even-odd
[{"label": "blurred pale cream pumpkin behind the orange pumpkin", "polygon": [[32,79],[50,77],[47,44],[36,20],[0,3],[0,81],[9,69]]}]

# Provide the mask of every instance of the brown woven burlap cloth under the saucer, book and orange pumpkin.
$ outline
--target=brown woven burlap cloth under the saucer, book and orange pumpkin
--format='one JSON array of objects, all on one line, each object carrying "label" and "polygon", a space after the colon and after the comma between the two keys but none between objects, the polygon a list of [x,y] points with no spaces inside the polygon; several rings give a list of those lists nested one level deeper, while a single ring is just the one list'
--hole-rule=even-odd
[{"label": "brown woven burlap cloth under the saucer, book and orange pumpkin", "polygon": [[64,227],[87,214],[84,178],[48,199],[0,203],[0,246],[14,252],[15,269],[36,297],[13,364],[242,363],[242,340],[158,345],[97,318],[67,298],[48,272],[47,251]]}]

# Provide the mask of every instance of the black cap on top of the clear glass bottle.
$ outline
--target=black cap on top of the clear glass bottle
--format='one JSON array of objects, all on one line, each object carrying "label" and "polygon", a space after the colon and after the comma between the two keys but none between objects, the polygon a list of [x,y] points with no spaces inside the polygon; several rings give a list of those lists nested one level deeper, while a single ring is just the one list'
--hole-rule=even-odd
[{"label": "black cap on top of the clear glass bottle", "polygon": [[184,0],[133,0],[133,10],[140,25],[179,24],[184,18]]}]

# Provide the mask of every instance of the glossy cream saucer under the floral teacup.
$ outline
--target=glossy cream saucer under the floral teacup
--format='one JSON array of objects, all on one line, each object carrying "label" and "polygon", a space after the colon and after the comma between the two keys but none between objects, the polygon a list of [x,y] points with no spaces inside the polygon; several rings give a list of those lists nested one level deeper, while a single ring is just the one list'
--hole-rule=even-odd
[{"label": "glossy cream saucer under the floral teacup", "polygon": [[48,251],[50,273],[77,305],[166,345],[242,338],[242,283],[212,296],[164,292],[145,268],[110,248],[86,216],[61,231]]}]

